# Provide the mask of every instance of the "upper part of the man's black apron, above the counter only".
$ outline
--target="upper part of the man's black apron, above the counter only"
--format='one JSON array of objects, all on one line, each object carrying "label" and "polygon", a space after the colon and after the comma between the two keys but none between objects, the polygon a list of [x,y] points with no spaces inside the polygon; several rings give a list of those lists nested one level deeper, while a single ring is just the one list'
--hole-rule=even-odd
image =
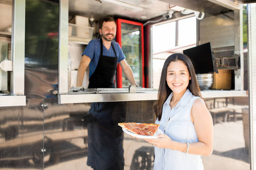
[{"label": "upper part of the man's black apron, above the counter only", "polygon": [[[114,45],[111,42],[111,46],[115,53]],[[101,39],[101,54],[98,60],[96,70],[89,78],[88,88],[115,88],[114,86],[114,75],[117,67],[117,53],[115,57],[108,57],[102,55],[103,43]]]}]

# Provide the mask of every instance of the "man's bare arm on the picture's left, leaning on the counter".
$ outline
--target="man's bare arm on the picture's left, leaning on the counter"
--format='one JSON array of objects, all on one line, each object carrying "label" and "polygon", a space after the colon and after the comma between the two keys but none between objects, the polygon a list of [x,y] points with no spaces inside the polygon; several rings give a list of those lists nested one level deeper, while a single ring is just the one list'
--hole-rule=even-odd
[{"label": "man's bare arm on the picture's left, leaning on the counter", "polygon": [[82,55],[79,69],[77,70],[76,87],[82,87],[82,80],[84,79],[85,70],[89,66],[89,63],[90,58],[88,56]]}]

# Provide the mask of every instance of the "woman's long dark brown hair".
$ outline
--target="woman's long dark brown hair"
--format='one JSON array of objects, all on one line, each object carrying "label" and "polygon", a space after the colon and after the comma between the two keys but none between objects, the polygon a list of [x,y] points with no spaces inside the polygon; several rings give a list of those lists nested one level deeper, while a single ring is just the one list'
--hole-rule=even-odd
[{"label": "woman's long dark brown hair", "polygon": [[172,92],[171,88],[168,86],[168,84],[166,82],[167,67],[170,65],[171,62],[175,62],[175,61],[179,61],[179,60],[183,61],[184,64],[188,67],[189,75],[191,76],[191,80],[189,80],[187,89],[189,89],[189,91],[193,95],[199,96],[203,99],[203,97],[201,96],[199,84],[196,79],[195,69],[193,67],[193,63],[191,62],[191,59],[189,59],[187,56],[185,56],[184,54],[181,54],[181,53],[172,54],[164,62],[163,70],[162,70],[162,74],[161,74],[161,78],[160,78],[159,90],[158,90],[158,101],[153,107],[155,116],[156,116],[156,118],[158,118],[158,120],[161,120],[163,104]]}]

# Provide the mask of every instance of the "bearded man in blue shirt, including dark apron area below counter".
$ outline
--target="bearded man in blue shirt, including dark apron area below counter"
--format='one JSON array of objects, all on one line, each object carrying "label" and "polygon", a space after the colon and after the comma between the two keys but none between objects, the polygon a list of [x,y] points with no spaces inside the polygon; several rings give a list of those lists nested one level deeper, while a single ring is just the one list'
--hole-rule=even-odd
[{"label": "bearded man in blue shirt, including dark apron area below counter", "polygon": [[[91,40],[82,53],[77,87],[82,86],[85,70],[89,66],[88,88],[114,88],[117,63],[120,63],[129,82],[137,86],[122,49],[117,42],[112,41],[116,32],[115,20],[111,17],[104,18],[99,31],[101,39]],[[125,121],[126,107],[126,102],[100,102],[90,106],[87,115],[93,121],[87,124],[87,165],[94,170],[124,169],[123,131],[118,123]]]}]

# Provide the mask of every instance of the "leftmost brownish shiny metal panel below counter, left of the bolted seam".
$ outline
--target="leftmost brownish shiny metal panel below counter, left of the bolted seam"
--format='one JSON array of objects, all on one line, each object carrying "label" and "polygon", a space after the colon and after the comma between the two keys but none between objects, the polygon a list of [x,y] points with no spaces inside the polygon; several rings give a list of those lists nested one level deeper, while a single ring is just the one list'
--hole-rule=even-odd
[{"label": "leftmost brownish shiny metal panel below counter, left of the bolted seam", "polygon": [[42,100],[34,100],[30,107],[6,107],[0,114],[0,167],[35,168],[36,148],[43,148]]}]

